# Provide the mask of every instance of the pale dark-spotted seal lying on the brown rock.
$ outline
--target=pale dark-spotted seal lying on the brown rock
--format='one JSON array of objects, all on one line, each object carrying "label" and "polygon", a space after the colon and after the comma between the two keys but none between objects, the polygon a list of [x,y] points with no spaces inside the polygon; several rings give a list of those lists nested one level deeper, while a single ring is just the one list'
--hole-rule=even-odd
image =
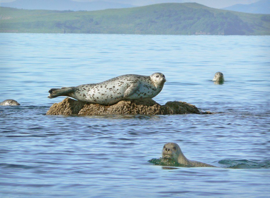
[{"label": "pale dark-spotted seal lying on the brown rock", "polygon": [[48,98],[68,96],[80,101],[112,105],[122,99],[153,98],[162,90],[164,74],[151,76],[126,74],[96,84],[52,88]]}]

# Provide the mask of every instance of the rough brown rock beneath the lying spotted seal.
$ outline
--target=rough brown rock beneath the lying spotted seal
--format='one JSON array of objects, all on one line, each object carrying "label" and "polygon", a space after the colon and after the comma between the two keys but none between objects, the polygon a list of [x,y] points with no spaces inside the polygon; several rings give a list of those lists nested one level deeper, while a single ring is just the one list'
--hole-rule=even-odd
[{"label": "rough brown rock beneath the lying spotted seal", "polygon": [[46,115],[107,115],[107,114],[210,114],[200,112],[197,107],[186,102],[170,101],[160,105],[150,98],[138,100],[122,100],[114,105],[100,105],[65,98],[60,103],[54,103]]}]

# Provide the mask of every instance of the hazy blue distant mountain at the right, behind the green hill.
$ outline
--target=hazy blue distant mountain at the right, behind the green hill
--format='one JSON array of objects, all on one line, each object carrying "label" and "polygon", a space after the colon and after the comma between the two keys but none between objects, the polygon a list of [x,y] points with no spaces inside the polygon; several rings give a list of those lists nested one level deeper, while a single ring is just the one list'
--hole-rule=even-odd
[{"label": "hazy blue distant mountain at the right, behind the green hill", "polygon": [[236,4],[230,7],[222,8],[223,10],[232,10],[237,12],[247,12],[254,14],[270,14],[270,0],[260,0],[251,4]]}]

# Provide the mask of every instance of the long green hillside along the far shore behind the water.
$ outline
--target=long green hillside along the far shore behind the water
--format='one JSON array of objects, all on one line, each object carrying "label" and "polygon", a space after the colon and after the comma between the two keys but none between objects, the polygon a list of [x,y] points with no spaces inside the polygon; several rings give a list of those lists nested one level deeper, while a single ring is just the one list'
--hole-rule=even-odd
[{"label": "long green hillside along the far shore behind the water", "polygon": [[0,32],[269,35],[270,15],[198,3],[77,12],[0,7]]}]

